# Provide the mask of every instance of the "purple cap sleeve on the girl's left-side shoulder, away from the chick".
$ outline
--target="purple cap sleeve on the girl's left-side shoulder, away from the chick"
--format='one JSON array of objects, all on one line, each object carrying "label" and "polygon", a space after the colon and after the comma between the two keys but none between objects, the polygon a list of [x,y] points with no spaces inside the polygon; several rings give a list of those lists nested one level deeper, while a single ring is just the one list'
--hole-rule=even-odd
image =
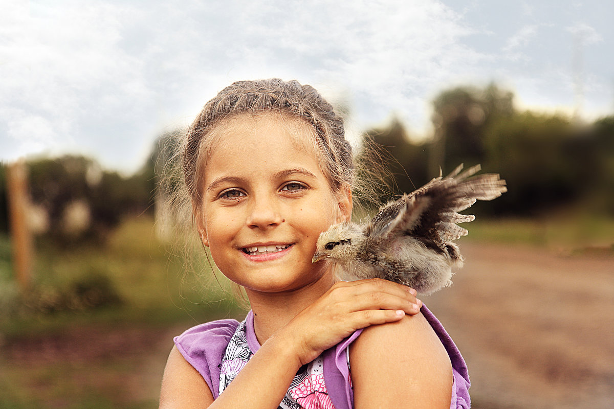
[{"label": "purple cap sleeve on the girl's left-side shoulder, away from the chick", "polygon": [[220,364],[224,351],[238,326],[234,319],[220,319],[192,327],[174,338],[177,350],[204,378],[213,399],[217,399],[220,390]]}]

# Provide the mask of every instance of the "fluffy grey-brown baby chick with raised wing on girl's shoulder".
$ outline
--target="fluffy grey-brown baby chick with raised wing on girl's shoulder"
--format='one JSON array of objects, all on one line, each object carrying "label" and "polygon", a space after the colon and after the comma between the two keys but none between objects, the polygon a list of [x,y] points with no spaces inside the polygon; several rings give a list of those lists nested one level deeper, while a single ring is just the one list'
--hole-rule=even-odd
[{"label": "fluffy grey-brown baby chick with raised wing on girl's shoulder", "polygon": [[312,262],[335,263],[341,280],[384,278],[421,294],[451,285],[452,269],[463,264],[452,241],[468,233],[456,223],[475,219],[457,212],[507,191],[499,175],[473,176],[480,165],[461,173],[462,167],[383,205],[366,224],[331,226],[320,234]]}]

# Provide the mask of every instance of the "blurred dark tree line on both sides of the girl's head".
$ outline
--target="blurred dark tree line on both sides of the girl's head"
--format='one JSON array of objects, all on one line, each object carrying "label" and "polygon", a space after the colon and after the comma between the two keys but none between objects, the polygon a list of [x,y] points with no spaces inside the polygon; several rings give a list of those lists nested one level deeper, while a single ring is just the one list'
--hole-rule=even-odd
[{"label": "blurred dark tree line on both sides of the girl's head", "polygon": [[[391,159],[392,177],[383,181],[389,196],[413,191],[440,167],[445,174],[461,162],[480,163],[484,172],[499,173],[508,183],[500,199],[478,204],[480,214],[542,216],[581,207],[614,215],[614,115],[581,123],[517,110],[513,99],[494,84],[443,91],[432,102],[430,139],[416,142],[393,119],[364,132],[365,156]],[[61,245],[104,242],[125,216],[153,213],[159,157],[168,157],[167,142],[174,136],[158,138],[146,164],[129,177],[82,156],[28,161],[31,199],[45,213],[41,236]],[[0,232],[9,227],[6,171],[0,166]]]}]

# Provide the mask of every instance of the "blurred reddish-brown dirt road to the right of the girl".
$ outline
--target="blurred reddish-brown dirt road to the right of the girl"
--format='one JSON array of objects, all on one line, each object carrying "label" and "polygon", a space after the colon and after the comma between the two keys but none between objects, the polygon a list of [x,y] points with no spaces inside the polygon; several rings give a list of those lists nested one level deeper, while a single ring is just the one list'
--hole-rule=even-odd
[{"label": "blurred reddish-brown dirt road to the right of the girl", "polygon": [[472,407],[614,408],[614,257],[462,243],[423,297],[467,361]]}]

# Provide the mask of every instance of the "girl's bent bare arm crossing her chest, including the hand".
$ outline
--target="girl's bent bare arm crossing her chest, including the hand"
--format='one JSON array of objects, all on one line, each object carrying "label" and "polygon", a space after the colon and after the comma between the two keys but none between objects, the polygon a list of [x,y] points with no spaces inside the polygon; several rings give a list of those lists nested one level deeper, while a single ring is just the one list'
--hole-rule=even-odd
[{"label": "girl's bent bare arm crossing her chest, including the hand", "polygon": [[301,365],[370,325],[416,314],[415,291],[389,281],[340,282],[275,332],[213,400],[208,385],[176,349],[162,384],[160,408],[276,409]]}]

